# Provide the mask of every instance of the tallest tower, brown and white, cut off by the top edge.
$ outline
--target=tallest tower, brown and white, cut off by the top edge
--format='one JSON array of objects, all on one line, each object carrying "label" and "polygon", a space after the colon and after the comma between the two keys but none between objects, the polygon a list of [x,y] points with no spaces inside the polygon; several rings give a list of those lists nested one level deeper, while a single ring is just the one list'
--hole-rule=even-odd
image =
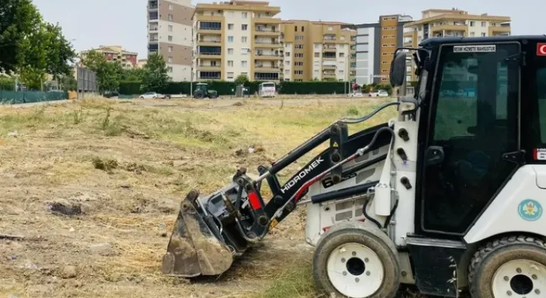
[{"label": "tallest tower, brown and white, cut off by the top edge", "polygon": [[191,80],[191,0],[146,0],[148,54],[165,59],[174,82]]}]

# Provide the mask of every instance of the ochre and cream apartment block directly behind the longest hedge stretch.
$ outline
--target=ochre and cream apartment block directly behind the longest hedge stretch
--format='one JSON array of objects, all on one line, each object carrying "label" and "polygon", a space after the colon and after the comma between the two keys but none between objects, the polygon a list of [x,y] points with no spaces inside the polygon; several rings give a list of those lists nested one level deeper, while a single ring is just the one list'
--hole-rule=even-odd
[{"label": "ochre and cream apartment block directly behind the longest hedge stretch", "polygon": [[352,81],[356,66],[356,31],[339,22],[282,22],[282,79]]}]

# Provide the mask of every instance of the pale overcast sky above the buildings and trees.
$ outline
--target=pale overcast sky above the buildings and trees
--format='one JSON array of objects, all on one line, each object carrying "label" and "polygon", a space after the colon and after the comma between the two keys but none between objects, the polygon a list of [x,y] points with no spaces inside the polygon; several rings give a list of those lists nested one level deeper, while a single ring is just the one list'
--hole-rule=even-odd
[{"label": "pale overcast sky above the buildings and trees", "polygon": [[[146,2],[148,0],[33,0],[45,21],[59,23],[75,50],[99,45],[121,45],[146,57]],[[217,2],[221,0],[216,0]],[[197,3],[213,1],[192,1]],[[425,9],[456,7],[471,14],[488,13],[512,18],[512,35],[546,34],[545,0],[269,0],[280,6],[282,19],[376,23],[380,15],[408,14],[421,18]]]}]

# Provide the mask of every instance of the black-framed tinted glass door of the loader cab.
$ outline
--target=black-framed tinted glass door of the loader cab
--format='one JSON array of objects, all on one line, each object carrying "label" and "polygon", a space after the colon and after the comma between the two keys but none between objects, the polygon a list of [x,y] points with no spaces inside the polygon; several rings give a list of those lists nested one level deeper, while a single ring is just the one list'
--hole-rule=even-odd
[{"label": "black-framed tinted glass door of the loader cab", "polygon": [[519,43],[442,45],[420,164],[427,233],[463,235],[518,167]]}]

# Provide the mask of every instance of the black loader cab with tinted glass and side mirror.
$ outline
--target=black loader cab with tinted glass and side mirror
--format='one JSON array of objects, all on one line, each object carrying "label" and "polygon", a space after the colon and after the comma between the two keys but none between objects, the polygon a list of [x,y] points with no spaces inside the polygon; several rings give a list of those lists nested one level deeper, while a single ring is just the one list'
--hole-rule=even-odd
[{"label": "black loader cab with tinted glass and side mirror", "polygon": [[[519,167],[546,161],[545,41],[430,38],[412,49],[416,234],[463,238]],[[395,86],[407,75],[403,50],[391,66]]]}]

